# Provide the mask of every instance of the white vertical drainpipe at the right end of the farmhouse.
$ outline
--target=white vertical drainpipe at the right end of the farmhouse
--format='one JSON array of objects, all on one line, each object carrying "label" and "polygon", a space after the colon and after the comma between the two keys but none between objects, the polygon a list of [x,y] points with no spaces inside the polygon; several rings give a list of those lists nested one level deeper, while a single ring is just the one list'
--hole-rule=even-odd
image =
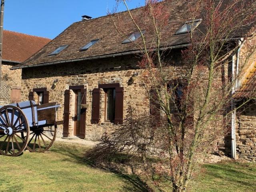
[{"label": "white vertical drainpipe at the right end of the farmhouse", "polygon": [[[238,50],[235,55],[232,56],[232,83],[234,80],[236,81],[234,86],[232,87],[232,95],[236,92],[238,87],[238,72],[239,72],[239,59],[240,59],[240,51],[242,48],[242,38],[238,42]],[[236,76],[235,76],[235,62],[236,62]],[[236,160],[236,108],[235,101],[232,99],[231,102],[231,110],[233,110],[231,114],[231,154],[232,158]]]}]

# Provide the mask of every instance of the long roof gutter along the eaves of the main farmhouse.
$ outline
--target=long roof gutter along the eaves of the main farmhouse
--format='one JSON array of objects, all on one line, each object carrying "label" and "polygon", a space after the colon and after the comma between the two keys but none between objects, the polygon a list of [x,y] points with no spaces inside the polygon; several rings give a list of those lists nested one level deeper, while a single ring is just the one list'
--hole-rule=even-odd
[{"label": "long roof gutter along the eaves of the main farmhouse", "polygon": [[[168,49],[178,49],[187,47],[190,44],[182,44],[177,46],[168,46],[164,48],[160,48],[160,50],[168,50]],[[153,51],[156,49],[153,49]],[[109,55],[102,55],[102,56],[94,56],[94,57],[86,57],[86,58],[79,58],[79,59],[69,59],[69,60],[62,60],[62,61],[55,61],[55,62],[48,62],[48,63],[42,63],[42,64],[36,64],[36,65],[29,65],[29,66],[19,66],[19,67],[13,67],[11,70],[14,69],[22,69],[22,68],[31,68],[31,67],[38,67],[38,66],[48,66],[48,65],[54,65],[54,64],[62,64],[62,63],[69,63],[69,62],[76,62],[76,61],[85,61],[85,60],[94,60],[94,59],[101,59],[101,58],[110,58],[110,57],[117,57],[117,56],[124,56],[124,55],[130,55],[130,54],[138,54],[141,53],[140,50],[136,51],[130,51],[130,52],[122,52],[122,53],[116,53],[116,54],[109,54]]]}]

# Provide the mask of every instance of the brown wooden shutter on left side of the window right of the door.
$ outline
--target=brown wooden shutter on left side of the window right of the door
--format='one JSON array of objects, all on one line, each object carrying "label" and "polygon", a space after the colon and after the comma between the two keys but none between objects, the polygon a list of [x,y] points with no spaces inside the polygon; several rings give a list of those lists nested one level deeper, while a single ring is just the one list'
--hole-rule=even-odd
[{"label": "brown wooden shutter on left side of the window right of the door", "polygon": [[92,91],[92,124],[100,121],[100,88]]}]

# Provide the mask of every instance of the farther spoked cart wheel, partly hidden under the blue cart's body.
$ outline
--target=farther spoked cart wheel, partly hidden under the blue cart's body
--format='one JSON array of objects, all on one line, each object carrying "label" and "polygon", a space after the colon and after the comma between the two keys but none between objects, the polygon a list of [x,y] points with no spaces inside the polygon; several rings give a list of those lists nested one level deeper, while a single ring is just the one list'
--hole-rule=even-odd
[{"label": "farther spoked cart wheel, partly hidden under the blue cart's body", "polygon": [[48,151],[55,140],[56,130],[57,125],[31,130],[32,137],[27,145],[28,150],[40,153]]}]

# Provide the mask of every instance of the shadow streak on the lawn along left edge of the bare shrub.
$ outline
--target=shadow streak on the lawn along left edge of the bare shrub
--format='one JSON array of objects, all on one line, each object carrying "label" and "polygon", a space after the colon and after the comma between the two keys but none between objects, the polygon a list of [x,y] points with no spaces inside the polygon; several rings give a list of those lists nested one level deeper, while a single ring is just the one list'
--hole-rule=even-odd
[{"label": "shadow streak on the lawn along left edge of the bare shrub", "polygon": [[50,149],[50,151],[58,154],[62,154],[63,156],[67,156],[67,158],[64,159],[65,161],[72,161],[75,163],[82,164],[84,166],[90,166],[91,168],[94,168],[94,169],[100,169],[106,172],[112,172],[116,174],[117,176],[119,176],[120,178],[128,182],[127,185],[122,186],[123,192],[150,192],[147,185],[142,180],[140,180],[140,178],[138,178],[137,176],[122,174],[112,168],[97,167],[93,164],[92,161],[86,160],[84,156],[86,152],[90,150],[90,148],[78,147],[78,146],[76,148],[76,145],[74,145],[74,147],[72,146],[73,146],[72,144],[68,146],[68,144],[62,145],[62,144],[56,143]]}]

